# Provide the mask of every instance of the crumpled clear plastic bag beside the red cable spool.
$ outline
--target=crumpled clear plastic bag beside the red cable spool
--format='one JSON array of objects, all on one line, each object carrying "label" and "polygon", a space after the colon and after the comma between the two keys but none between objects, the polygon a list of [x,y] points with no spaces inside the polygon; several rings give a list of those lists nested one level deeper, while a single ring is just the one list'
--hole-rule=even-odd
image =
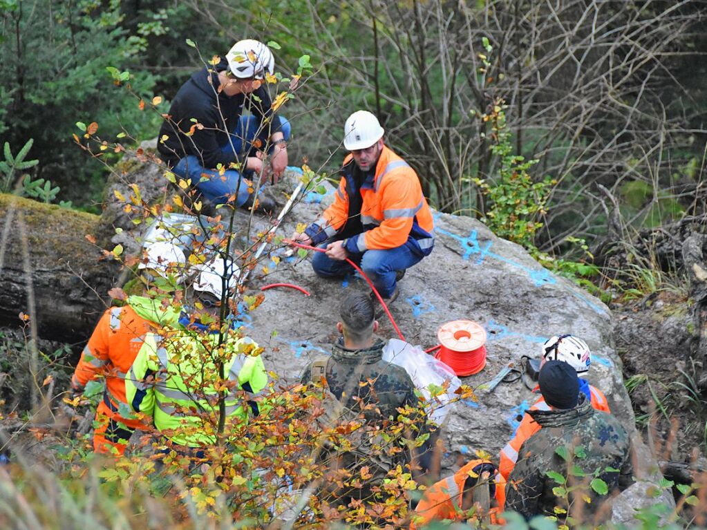
[{"label": "crumpled clear plastic bag beside the red cable spool", "polygon": [[[391,338],[383,348],[383,360],[404,368],[415,388],[422,392],[427,401],[428,417],[442,425],[454,406],[450,401],[456,396],[455,390],[462,384],[452,369],[425,353],[420,346],[413,346],[397,338]],[[442,387],[445,381],[450,382],[447,390],[431,397],[430,385]]]}]

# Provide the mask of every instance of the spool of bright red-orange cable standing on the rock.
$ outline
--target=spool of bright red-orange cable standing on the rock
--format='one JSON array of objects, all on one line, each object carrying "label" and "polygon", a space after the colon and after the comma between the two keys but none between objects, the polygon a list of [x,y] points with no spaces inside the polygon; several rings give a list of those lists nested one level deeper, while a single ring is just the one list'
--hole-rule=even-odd
[{"label": "spool of bright red-orange cable standing on the rock", "polygon": [[486,330],[471,320],[452,320],[440,326],[440,341],[435,358],[466,377],[484,370],[486,366]]}]

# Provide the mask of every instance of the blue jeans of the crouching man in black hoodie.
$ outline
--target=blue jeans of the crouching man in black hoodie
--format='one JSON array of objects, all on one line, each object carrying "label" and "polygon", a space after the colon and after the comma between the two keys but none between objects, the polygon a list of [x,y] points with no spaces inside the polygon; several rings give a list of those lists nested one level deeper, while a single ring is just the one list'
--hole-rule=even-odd
[{"label": "blue jeans of the crouching man in black hoodie", "polygon": [[[289,140],[291,132],[290,122],[282,116],[280,117],[280,122],[282,124],[280,130],[285,136],[285,139]],[[263,134],[262,131],[260,135],[256,134],[259,126],[259,120],[255,116],[241,116],[240,119],[238,119],[235,130],[230,134],[233,147],[230,143],[227,143],[226,146],[221,147],[221,151],[224,153],[232,153],[235,151],[235,153],[239,155],[250,153],[253,147],[253,141]],[[267,131],[265,134],[267,134]],[[267,136],[270,136],[270,134],[267,134]],[[199,157],[194,155],[187,155],[185,158],[182,158],[179,163],[173,167],[172,172],[182,179],[191,179],[192,184],[197,187],[199,192],[213,204],[226,204],[228,196],[236,194],[236,206],[243,206],[250,196],[248,187],[250,187],[251,184],[245,182],[244,178],[247,177],[244,177],[240,171],[226,170],[223,175],[220,175],[218,171],[201,165]],[[209,177],[209,179],[202,182],[202,177]]]}]

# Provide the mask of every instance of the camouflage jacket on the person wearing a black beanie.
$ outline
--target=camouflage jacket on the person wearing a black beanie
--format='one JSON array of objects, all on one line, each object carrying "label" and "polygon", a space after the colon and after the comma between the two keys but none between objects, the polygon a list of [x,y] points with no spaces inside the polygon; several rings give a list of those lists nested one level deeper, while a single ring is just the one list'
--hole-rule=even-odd
[{"label": "camouflage jacket on the person wearing a black beanie", "polygon": [[[632,481],[631,442],[619,420],[596,411],[583,396],[580,399],[578,406],[568,410],[530,411],[542,429],[520,447],[506,487],[507,510],[526,518],[557,515],[563,521],[570,517],[566,519],[570,524],[598,524],[610,517],[610,510],[602,510],[603,500]],[[563,498],[565,487],[572,489],[569,506]],[[556,507],[568,513],[556,512]]]}]

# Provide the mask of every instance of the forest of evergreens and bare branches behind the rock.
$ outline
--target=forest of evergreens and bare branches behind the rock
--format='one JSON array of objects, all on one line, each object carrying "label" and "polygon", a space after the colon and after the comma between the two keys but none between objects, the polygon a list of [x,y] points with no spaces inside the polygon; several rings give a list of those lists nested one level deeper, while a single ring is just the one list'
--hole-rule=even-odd
[{"label": "forest of evergreens and bare branches behind the rock", "polygon": [[[0,8],[0,141],[17,153],[33,139],[28,158],[39,163],[20,191],[37,196],[32,181],[51,182],[40,199],[98,211],[105,167],[77,148],[76,122],[97,122],[103,138],[153,139],[162,118],[139,98],[157,96],[167,112],[199,64],[257,37],[279,43],[284,73],[303,55],[315,69],[288,107],[296,165],[323,164],[346,116],[372,110],[436,208],[482,218],[551,259],[588,261],[585,242],[628,240],[631,230],[703,210],[702,1]],[[129,90],[116,70],[129,72]]]}]

